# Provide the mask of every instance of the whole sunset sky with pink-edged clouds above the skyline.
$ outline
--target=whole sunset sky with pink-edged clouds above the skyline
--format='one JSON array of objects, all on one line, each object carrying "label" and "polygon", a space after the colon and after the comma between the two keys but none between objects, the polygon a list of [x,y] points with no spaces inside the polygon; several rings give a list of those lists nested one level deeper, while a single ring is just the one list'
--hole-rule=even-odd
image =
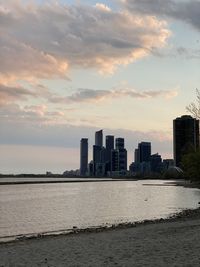
[{"label": "whole sunset sky with pink-edged clouds above the skyline", "polygon": [[200,84],[199,0],[0,0],[0,173],[78,169],[80,139],[173,157]]}]

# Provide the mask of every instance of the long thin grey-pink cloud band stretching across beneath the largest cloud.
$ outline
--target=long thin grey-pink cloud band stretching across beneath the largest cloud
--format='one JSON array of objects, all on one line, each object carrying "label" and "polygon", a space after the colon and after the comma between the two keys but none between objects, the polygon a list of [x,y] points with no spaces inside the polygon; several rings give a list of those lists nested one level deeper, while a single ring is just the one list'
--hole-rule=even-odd
[{"label": "long thin grey-pink cloud band stretching across beneath the largest cloud", "polygon": [[[112,90],[94,90],[81,88],[76,90],[74,93],[68,96],[59,95],[57,93],[51,92],[47,87],[41,84],[29,83],[29,88],[18,86],[6,86],[0,84],[0,107],[7,106],[6,110],[9,112],[9,107],[13,106],[23,106],[24,112],[31,111],[33,113],[42,114],[47,109],[47,105],[49,104],[60,104],[62,105],[62,109],[64,109],[64,105],[72,105],[76,103],[98,103],[106,100],[114,100],[119,98],[135,98],[135,99],[153,99],[158,97],[164,97],[166,99],[170,99],[176,97],[178,94],[177,89],[172,90],[146,90],[146,91],[136,91],[132,88],[124,88],[124,89],[112,89]],[[26,101],[39,99],[45,101],[45,105],[37,105],[37,106],[24,106]],[[20,108],[19,106],[19,108]],[[39,107],[39,109],[38,109]],[[46,107],[46,108],[44,108]],[[30,110],[32,109],[32,110]],[[4,109],[5,110],[5,109]],[[71,109],[67,109],[68,111]],[[63,113],[63,111],[61,111]],[[47,114],[47,113],[45,113]],[[26,117],[25,116],[25,117]]]}]

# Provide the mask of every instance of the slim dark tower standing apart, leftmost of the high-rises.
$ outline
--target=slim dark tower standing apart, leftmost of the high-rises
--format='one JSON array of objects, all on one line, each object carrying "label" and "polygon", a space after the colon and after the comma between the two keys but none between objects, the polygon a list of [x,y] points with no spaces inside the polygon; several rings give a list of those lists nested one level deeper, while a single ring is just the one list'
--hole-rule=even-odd
[{"label": "slim dark tower standing apart, leftmost of the high-rises", "polygon": [[88,168],[88,139],[82,138],[80,142],[80,175],[85,176]]}]

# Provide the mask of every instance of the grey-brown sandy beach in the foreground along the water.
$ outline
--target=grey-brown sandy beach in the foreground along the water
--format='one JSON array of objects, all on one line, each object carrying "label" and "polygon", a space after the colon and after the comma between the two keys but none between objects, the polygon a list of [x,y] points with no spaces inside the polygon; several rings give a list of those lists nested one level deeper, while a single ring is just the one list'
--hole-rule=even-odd
[{"label": "grey-brown sandy beach in the foreground along the water", "polygon": [[0,266],[200,266],[200,209],[169,220],[0,244]]}]

